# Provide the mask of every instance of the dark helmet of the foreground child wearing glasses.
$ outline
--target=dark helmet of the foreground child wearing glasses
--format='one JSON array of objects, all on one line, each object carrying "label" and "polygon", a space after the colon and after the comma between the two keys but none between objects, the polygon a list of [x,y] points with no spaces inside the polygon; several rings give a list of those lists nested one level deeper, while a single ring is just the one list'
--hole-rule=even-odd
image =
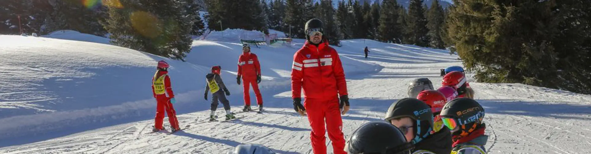
[{"label": "dark helmet of the foreground child wearing glasses", "polygon": [[431,134],[433,130],[433,112],[425,102],[417,98],[402,98],[390,105],[384,120],[391,123],[392,119],[402,117],[410,117],[416,120],[413,126],[415,136],[411,141],[412,143],[416,144]]}]

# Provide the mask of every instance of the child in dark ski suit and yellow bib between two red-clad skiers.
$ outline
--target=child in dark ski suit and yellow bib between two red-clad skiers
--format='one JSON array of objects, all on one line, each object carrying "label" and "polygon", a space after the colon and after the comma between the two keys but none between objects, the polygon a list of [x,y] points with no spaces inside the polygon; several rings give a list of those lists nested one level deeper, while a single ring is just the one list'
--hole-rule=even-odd
[{"label": "child in dark ski suit and yellow bib between two red-clad skiers", "polygon": [[[222,67],[221,66],[213,66],[212,73],[208,73],[206,77],[207,84],[205,86],[205,100],[207,100],[207,93],[209,91],[212,92],[212,111],[209,115],[209,121],[216,120],[216,109],[217,109],[217,100],[222,101],[223,108],[226,110],[226,120],[230,120],[234,117],[234,115],[230,112],[230,101],[226,99],[226,95],[230,95],[230,91],[226,88],[226,85],[223,84],[222,77]],[[221,91],[223,90],[223,91]],[[225,95],[224,95],[225,94]]]}]

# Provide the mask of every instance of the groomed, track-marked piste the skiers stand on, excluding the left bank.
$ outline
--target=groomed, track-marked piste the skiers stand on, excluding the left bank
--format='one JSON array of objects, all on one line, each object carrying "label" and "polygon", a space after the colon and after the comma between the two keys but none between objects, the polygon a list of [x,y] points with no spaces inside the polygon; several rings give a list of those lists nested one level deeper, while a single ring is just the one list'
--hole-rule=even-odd
[{"label": "groomed, track-marked piste the skiers stand on, excluding the left bank", "polygon": [[[461,65],[457,56],[445,50],[370,40],[343,40],[342,44],[336,47],[342,57],[382,67],[375,73],[346,74],[351,102],[351,110],[343,115],[346,140],[361,124],[381,120],[392,102],[407,97],[407,86],[413,79],[427,77],[438,88],[439,69]],[[362,55],[364,46],[371,50],[369,59]],[[281,75],[274,78],[282,82]],[[489,135],[485,147],[489,153],[591,153],[591,96],[522,84],[470,85],[476,91],[476,100],[485,107]],[[290,87],[277,87],[261,88],[264,114],[252,111],[236,114],[242,117],[238,120],[210,123],[204,121],[209,110],[203,110],[179,114],[180,125],[191,127],[170,135],[146,134],[153,120],[145,120],[2,147],[0,153],[226,153],[248,143],[262,144],[278,153],[312,153],[307,118],[294,113]],[[0,98],[19,93],[6,92]],[[254,95],[251,97],[254,99]],[[241,94],[229,99],[233,111],[241,109]],[[222,112],[219,108],[217,115],[223,117]],[[169,127],[167,119],[164,127]],[[329,153],[331,143],[327,137]]]}]

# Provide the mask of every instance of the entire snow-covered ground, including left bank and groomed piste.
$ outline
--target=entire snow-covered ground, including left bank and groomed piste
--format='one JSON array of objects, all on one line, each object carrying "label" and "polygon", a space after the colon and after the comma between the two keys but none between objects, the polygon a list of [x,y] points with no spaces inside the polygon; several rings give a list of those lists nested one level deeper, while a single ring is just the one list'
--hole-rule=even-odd
[{"label": "entire snow-covered ground, including left bank and groomed piste", "polygon": [[[203,76],[210,66],[227,70],[222,76],[232,110],[243,105],[242,85],[235,84],[239,36],[255,32],[216,33],[195,40],[187,62],[165,59],[173,67],[179,122],[191,125],[171,135],[147,134],[155,113],[150,79],[162,57],[106,44],[0,36],[0,153],[226,153],[248,143],[278,153],[312,153],[309,123],[293,111],[289,81],[293,53],[303,40],[252,46],[264,75],[264,114],[204,122],[209,101],[203,100]],[[461,65],[447,50],[372,40],[342,44],[335,49],[345,64],[352,108],[343,115],[347,140],[407,97],[408,82],[427,77],[437,88],[439,69]],[[522,84],[470,85],[485,107],[489,153],[591,153],[590,95]],[[332,152],[329,139],[326,144]]]}]

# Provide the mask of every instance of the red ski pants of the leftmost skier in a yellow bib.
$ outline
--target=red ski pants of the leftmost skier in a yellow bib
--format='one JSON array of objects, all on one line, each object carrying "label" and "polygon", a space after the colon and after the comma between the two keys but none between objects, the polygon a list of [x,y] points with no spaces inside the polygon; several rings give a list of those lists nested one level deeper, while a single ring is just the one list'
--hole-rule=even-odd
[{"label": "red ski pants of the leftmost skier in a yellow bib", "polygon": [[174,111],[173,104],[170,103],[170,98],[166,97],[165,94],[163,95],[156,95],[156,122],[154,127],[156,129],[163,129],[162,128],[162,121],[164,120],[164,111],[168,114],[168,121],[170,122],[170,126],[174,128],[178,128],[178,120],[177,120],[177,113]]}]

